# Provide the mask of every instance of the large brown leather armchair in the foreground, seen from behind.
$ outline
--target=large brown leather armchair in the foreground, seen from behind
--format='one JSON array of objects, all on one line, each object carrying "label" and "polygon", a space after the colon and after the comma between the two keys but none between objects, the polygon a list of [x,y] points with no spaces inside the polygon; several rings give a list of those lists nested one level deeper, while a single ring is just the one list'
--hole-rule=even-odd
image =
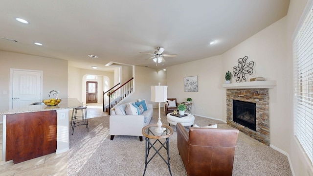
[{"label": "large brown leather armchair in the foreground, seen from behind", "polygon": [[177,147],[188,176],[231,176],[239,131],[177,123]]}]

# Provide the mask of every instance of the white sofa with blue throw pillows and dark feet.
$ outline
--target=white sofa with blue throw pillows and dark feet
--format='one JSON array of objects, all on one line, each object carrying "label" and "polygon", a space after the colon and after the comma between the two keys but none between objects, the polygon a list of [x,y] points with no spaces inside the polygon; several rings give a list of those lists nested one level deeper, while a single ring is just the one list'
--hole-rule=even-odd
[{"label": "white sofa with blue throw pillows and dark feet", "polygon": [[[129,104],[127,103],[122,106],[125,107],[128,105]],[[120,114],[121,111],[116,107],[112,109],[110,115],[111,140],[113,140],[114,135],[131,135],[139,136],[139,140],[142,141],[143,135],[141,130],[144,126],[149,125],[153,115],[152,104],[146,104],[146,106],[147,110],[143,111],[141,115],[124,115]],[[118,110],[120,115],[117,115],[115,110]]]}]

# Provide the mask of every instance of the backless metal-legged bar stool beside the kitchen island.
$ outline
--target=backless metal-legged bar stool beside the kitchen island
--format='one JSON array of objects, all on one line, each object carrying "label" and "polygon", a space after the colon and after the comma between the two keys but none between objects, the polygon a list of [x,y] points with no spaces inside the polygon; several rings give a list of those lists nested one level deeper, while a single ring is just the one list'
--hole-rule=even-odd
[{"label": "backless metal-legged bar stool beside the kitchen island", "polygon": [[[77,115],[77,110],[81,110],[82,115]],[[82,119],[82,120],[76,121],[76,119]],[[86,125],[87,131],[89,132],[88,118],[87,118],[87,105],[73,108],[70,125],[72,126],[72,135],[74,134],[74,128],[80,125]]]}]

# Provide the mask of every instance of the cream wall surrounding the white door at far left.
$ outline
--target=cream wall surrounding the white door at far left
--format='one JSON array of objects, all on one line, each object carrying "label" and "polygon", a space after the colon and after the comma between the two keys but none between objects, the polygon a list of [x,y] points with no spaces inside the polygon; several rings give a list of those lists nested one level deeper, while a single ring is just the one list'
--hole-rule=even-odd
[{"label": "cream wall surrounding the white door at far left", "polygon": [[[59,91],[59,98],[67,98],[67,61],[41,56],[0,51],[0,111],[9,109],[10,68],[43,70],[43,95]],[[3,94],[7,91],[7,94]]]}]

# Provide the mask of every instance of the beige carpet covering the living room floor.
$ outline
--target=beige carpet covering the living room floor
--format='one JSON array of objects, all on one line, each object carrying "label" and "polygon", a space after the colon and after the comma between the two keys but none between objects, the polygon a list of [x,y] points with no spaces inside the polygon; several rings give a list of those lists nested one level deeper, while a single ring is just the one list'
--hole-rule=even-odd
[{"label": "beige carpet covering the living room floor", "polygon": [[[164,112],[161,121],[167,124]],[[157,122],[157,109],[150,124]],[[195,124],[231,128],[221,121],[195,117]],[[176,127],[172,126],[174,131]],[[162,150],[166,156],[165,150]],[[177,133],[170,137],[170,167],[173,176],[186,176],[177,150]],[[68,176],[142,176],[145,168],[145,142],[137,136],[115,136],[110,140],[109,116],[89,119],[89,132],[75,127],[70,135]],[[165,162],[155,156],[148,164],[146,176],[169,176]],[[239,133],[235,151],[233,176],[292,176],[287,156]]]}]

